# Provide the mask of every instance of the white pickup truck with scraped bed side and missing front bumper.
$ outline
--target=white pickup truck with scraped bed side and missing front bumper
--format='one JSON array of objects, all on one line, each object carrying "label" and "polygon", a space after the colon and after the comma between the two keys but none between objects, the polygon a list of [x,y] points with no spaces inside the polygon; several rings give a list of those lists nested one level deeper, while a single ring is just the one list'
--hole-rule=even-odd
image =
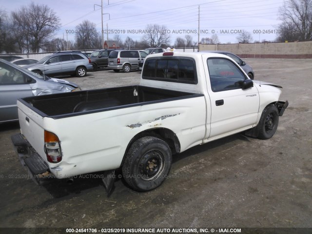
[{"label": "white pickup truck with scraped bed side and missing front bumper", "polygon": [[288,106],[280,88],[225,55],[164,52],[146,58],[137,86],[19,99],[12,140],[37,180],[103,172],[110,190],[121,169],[131,188],[149,191],[172,154],[239,132],[271,138]]}]

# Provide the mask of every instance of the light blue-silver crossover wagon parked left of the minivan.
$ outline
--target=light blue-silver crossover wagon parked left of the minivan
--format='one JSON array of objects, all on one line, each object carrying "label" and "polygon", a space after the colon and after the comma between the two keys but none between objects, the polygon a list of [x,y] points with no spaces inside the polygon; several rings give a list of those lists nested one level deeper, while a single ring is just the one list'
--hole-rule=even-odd
[{"label": "light blue-silver crossover wagon parked left of the minivan", "polygon": [[87,72],[92,72],[90,58],[81,52],[57,52],[39,60],[35,64],[24,66],[29,71],[40,75],[63,76],[76,75],[84,77]]}]

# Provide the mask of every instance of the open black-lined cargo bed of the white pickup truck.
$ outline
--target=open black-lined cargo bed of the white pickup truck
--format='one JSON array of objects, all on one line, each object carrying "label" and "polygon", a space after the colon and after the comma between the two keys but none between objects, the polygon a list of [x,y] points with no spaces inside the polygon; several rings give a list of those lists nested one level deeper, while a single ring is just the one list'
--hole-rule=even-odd
[{"label": "open black-lined cargo bed of the white pickup truck", "polygon": [[36,96],[20,101],[42,117],[57,119],[196,96],[202,95],[134,85]]}]

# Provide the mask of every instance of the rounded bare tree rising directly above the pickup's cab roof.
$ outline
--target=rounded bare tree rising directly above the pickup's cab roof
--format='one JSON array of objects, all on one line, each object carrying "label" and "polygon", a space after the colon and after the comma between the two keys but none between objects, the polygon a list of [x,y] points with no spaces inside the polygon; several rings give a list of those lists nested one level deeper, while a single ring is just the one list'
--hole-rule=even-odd
[{"label": "rounded bare tree rising directly above the pickup's cab roof", "polygon": [[150,47],[165,47],[170,42],[170,35],[164,25],[148,24],[145,30],[147,34],[144,35],[143,40]]}]

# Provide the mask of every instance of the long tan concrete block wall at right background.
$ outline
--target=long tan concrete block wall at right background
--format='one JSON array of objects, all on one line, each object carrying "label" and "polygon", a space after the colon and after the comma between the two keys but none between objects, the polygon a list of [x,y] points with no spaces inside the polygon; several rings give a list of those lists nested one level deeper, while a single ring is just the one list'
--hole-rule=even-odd
[{"label": "long tan concrete block wall at right background", "polygon": [[199,51],[229,51],[243,58],[312,59],[312,41],[285,43],[199,44]]}]

